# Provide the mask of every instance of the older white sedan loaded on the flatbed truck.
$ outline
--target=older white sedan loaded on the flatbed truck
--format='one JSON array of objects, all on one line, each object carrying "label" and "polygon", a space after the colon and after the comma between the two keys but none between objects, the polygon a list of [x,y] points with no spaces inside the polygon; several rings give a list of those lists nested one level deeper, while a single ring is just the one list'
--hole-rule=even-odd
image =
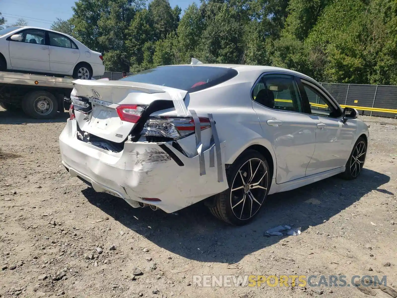
[{"label": "older white sedan loaded on the flatbed truck", "polygon": [[103,57],[77,39],[37,27],[0,30],[0,71],[70,75],[91,79],[103,75]]}]

